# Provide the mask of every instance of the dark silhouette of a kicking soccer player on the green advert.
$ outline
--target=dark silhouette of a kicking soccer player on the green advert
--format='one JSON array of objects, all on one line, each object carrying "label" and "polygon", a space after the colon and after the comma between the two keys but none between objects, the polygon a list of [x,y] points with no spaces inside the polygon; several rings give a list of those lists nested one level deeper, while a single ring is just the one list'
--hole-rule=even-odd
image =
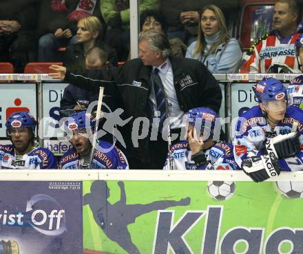
[{"label": "dark silhouette of a kicking soccer player on the green advert", "polygon": [[187,206],[190,203],[190,198],[182,198],[180,201],[159,200],[150,204],[126,204],[124,182],[119,181],[118,186],[121,189],[121,199],[110,204],[107,201],[109,198],[107,183],[104,180],[94,181],[90,187],[90,193],[83,197],[83,205],[90,205],[96,224],[110,240],[119,244],[129,254],[140,254],[127,229],[127,226],[134,223],[136,218],[151,211]]}]

